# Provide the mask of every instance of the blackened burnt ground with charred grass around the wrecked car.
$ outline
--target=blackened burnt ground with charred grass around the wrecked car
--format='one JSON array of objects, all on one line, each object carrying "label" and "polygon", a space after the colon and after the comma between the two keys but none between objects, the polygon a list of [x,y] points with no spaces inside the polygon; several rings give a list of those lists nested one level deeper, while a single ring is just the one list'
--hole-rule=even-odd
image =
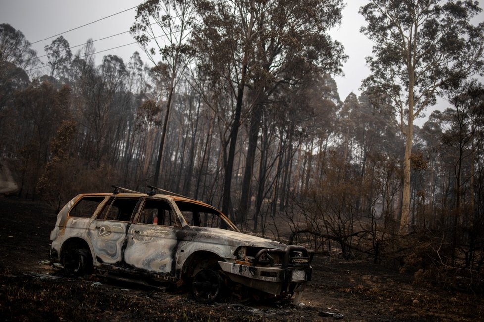
[{"label": "blackened burnt ground with charred grass around the wrecked car", "polygon": [[316,255],[301,304],[210,305],[189,292],[147,288],[91,275],[62,275],[48,262],[56,214],[40,202],[0,197],[2,321],[483,321],[482,296],[413,285],[397,266]]}]

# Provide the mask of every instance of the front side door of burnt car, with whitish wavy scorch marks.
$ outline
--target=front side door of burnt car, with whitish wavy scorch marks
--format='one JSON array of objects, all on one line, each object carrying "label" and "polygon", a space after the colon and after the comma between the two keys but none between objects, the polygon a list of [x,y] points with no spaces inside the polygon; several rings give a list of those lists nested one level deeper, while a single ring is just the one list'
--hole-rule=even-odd
[{"label": "front side door of burnt car, with whitish wavy scorch marks", "polygon": [[124,261],[128,266],[175,276],[176,230],[180,226],[170,203],[159,198],[145,198],[136,220],[128,228]]}]

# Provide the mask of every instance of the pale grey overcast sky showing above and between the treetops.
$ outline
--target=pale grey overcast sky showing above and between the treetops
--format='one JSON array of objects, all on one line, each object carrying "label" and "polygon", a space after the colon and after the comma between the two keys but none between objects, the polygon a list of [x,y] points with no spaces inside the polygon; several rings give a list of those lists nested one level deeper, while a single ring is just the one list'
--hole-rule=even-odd
[{"label": "pale grey overcast sky showing above and between the treetops", "polygon": [[[62,33],[71,47],[84,44],[89,38],[98,40],[125,32],[119,36],[94,42],[96,51],[100,52],[135,42],[127,32],[133,24],[135,9],[74,31],[64,32],[133,8],[141,2],[142,0],[0,0],[0,23],[9,23],[15,29],[22,31],[31,43]],[[350,92],[360,94],[361,80],[369,74],[365,57],[371,54],[372,42],[359,32],[360,27],[365,25],[365,20],[358,13],[359,7],[366,2],[347,0],[342,12],[341,26],[331,33],[334,39],[344,45],[345,52],[349,55],[348,61],[344,64],[345,76],[335,77],[339,96],[343,101]],[[484,21],[483,16],[481,14],[478,21]],[[44,46],[49,45],[57,37],[34,43],[32,48],[37,51],[38,56],[42,56],[45,54]],[[75,53],[79,48],[81,47],[73,48],[72,52]],[[100,63],[102,56],[112,54],[120,56],[127,62],[135,51],[142,54],[142,50],[136,43],[100,52],[96,54],[96,61]],[[41,59],[46,61],[45,57]],[[142,59],[149,63],[145,56],[142,56]]]}]

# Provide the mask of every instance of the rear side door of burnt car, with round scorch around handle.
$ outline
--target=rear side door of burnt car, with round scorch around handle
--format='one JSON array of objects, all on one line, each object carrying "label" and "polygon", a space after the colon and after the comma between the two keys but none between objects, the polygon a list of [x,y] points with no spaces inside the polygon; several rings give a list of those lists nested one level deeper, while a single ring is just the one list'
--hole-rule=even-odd
[{"label": "rear side door of burnt car, with round scorch around handle", "polygon": [[100,264],[121,265],[126,231],[139,198],[111,197],[90,224],[88,237]]}]

